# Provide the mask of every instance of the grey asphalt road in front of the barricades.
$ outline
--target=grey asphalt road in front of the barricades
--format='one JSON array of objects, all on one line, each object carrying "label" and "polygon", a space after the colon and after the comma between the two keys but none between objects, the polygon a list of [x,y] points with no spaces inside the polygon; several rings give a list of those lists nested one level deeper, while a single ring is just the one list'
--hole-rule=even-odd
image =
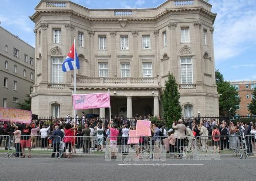
[{"label": "grey asphalt road in front of the barricades", "polygon": [[256,159],[166,159],[105,161],[102,156],[73,159],[0,157],[0,180],[256,180]]}]

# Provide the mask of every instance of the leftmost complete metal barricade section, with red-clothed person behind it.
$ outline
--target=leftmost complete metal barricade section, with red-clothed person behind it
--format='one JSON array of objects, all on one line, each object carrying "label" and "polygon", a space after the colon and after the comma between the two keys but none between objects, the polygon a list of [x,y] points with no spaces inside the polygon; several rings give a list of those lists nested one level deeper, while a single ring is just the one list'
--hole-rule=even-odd
[{"label": "leftmost complete metal barricade section, with red-clothed person behind it", "polygon": [[[17,139],[17,137],[20,138]],[[56,143],[53,144],[53,141],[56,140]],[[11,156],[15,157],[31,157],[31,155],[43,155],[50,154],[52,157],[55,157],[55,154],[59,156],[60,150],[60,136],[28,136],[28,135],[19,135],[14,137],[13,143],[10,146]],[[59,151],[57,151],[59,150]]]}]

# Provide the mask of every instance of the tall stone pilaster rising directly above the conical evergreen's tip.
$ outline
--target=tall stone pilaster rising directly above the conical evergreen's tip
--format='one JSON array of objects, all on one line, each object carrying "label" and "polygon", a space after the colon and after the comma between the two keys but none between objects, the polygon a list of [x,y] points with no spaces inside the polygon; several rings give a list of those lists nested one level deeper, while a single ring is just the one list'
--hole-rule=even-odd
[{"label": "tall stone pilaster rising directly above the conical evergreen's tip", "polygon": [[[178,78],[178,62],[180,60],[177,60],[177,40],[176,40],[176,27],[177,27],[177,23],[176,22],[170,22],[168,24],[168,28],[169,28],[169,37],[170,37],[170,57],[172,57],[172,61],[168,61],[168,68],[173,72],[174,76],[176,77],[176,80],[178,82],[179,79]],[[168,37],[168,35],[167,35]],[[172,73],[171,72],[171,73]]]}]

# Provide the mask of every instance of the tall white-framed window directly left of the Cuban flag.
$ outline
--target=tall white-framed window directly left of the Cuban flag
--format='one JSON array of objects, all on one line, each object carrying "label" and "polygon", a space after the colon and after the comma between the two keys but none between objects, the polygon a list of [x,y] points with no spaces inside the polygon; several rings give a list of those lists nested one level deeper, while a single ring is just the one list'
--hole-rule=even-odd
[{"label": "tall white-framed window directly left of the Cuban flag", "polygon": [[63,83],[62,63],[63,57],[51,57],[52,60],[52,83]]}]

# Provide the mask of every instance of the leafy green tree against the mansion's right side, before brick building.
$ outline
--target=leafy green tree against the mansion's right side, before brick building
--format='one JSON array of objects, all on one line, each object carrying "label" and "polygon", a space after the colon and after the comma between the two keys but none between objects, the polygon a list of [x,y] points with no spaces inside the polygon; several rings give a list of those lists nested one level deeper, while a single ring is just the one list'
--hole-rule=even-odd
[{"label": "leafy green tree against the mansion's right side, before brick building", "polygon": [[224,81],[219,70],[215,71],[217,91],[219,97],[219,112],[221,116],[236,114],[237,105],[240,104],[239,94],[228,81]]}]

